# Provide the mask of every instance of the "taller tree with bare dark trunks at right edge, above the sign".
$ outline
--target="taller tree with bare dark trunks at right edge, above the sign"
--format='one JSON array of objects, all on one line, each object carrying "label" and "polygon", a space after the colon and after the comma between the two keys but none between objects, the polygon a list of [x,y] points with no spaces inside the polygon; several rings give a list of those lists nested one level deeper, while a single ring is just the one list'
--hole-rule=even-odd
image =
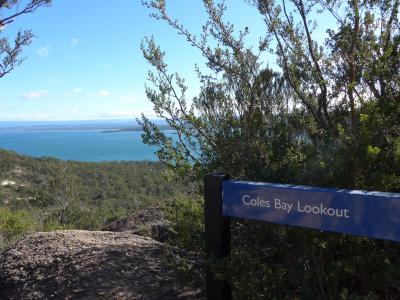
[{"label": "taller tree with bare dark trunks at right edge, above the sign", "polygon": [[[293,102],[312,117],[307,135],[319,152],[316,161],[337,166],[329,185],[399,191],[398,177],[388,184],[377,174],[381,170],[369,167],[398,161],[393,154],[400,135],[399,1],[249,2],[276,42]],[[336,21],[336,27],[317,41],[313,34],[322,18]],[[384,168],[392,173],[398,167]]]}]

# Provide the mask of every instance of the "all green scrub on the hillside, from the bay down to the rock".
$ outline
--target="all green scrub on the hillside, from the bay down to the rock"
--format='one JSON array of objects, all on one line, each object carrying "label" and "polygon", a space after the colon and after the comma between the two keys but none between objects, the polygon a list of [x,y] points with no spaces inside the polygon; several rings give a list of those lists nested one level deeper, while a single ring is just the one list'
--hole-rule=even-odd
[{"label": "all green scrub on the hillside, from the bay down to the rock", "polygon": [[187,191],[163,172],[154,162],[85,163],[0,150],[0,247],[30,231],[100,230]]}]

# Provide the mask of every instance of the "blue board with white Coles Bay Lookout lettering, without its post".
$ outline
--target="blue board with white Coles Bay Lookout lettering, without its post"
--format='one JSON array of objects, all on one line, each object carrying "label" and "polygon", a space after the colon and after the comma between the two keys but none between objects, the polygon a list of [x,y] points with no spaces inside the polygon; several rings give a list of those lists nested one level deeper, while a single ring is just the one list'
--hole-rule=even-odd
[{"label": "blue board with white Coles Bay Lookout lettering, without its post", "polygon": [[227,180],[226,216],[400,241],[400,194]]}]

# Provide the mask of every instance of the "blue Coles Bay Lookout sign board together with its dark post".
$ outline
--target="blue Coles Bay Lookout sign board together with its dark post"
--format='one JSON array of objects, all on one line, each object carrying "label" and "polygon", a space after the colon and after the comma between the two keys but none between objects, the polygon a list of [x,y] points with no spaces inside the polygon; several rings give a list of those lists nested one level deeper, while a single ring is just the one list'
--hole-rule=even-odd
[{"label": "blue Coles Bay Lookout sign board together with its dark post", "polygon": [[[400,242],[400,194],[204,177],[208,257],[229,256],[230,217]],[[230,300],[230,286],[206,271],[207,299]]]}]

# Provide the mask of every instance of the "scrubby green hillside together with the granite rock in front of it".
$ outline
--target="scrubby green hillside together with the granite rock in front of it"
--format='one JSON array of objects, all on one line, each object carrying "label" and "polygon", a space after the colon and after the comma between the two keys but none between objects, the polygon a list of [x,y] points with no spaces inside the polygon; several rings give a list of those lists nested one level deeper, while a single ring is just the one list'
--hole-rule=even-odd
[{"label": "scrubby green hillside together with the granite rock in front of it", "polygon": [[0,150],[0,299],[201,298],[165,258],[164,205],[189,188],[163,171]]}]

